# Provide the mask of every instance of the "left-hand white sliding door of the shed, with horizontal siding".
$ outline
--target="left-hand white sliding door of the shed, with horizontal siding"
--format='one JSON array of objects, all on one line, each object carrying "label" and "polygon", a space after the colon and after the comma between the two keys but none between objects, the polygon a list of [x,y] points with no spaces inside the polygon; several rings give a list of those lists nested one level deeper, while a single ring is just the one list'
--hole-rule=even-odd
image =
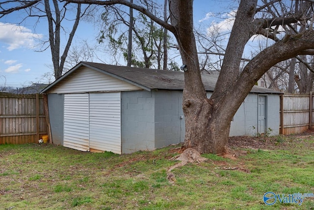
[{"label": "left-hand white sliding door of the shed, with horizontal siding", "polygon": [[64,147],[89,151],[88,104],[88,93],[64,95]]}]

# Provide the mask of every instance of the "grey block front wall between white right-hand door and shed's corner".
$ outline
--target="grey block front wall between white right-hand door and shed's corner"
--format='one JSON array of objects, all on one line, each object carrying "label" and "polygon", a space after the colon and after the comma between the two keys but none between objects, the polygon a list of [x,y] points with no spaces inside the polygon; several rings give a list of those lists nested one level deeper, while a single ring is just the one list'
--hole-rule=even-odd
[{"label": "grey block front wall between white right-hand door and shed's corner", "polygon": [[154,103],[150,91],[121,92],[122,153],[155,149]]}]

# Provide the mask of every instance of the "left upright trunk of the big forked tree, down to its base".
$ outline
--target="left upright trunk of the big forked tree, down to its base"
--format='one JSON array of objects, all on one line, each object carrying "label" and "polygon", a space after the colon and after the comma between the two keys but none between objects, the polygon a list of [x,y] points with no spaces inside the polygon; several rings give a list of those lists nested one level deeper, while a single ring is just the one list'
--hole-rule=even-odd
[{"label": "left upright trunk of the big forked tree, down to its base", "polygon": [[206,97],[199,71],[196,43],[193,33],[193,1],[169,0],[171,25],[175,27],[184,72],[183,112],[185,116],[184,147],[196,148],[200,152],[208,145],[208,122],[211,106]]}]

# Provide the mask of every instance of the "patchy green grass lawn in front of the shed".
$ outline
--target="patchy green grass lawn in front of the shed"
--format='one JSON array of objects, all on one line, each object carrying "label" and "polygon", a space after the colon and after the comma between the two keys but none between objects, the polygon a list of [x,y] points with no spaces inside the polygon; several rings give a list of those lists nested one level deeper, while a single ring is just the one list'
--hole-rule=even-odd
[{"label": "patchy green grass lawn in front of the shed", "polygon": [[0,210],[314,210],[263,203],[276,194],[314,193],[314,137],[256,138],[269,148],[235,147],[236,160],[209,160],[172,171],[178,146],[116,155],[49,144],[0,145]]}]

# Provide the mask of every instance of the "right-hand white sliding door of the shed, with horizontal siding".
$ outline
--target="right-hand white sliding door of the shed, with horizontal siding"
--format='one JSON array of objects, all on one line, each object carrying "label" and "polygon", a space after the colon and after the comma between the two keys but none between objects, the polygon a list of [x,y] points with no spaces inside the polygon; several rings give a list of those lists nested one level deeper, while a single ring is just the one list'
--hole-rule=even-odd
[{"label": "right-hand white sliding door of the shed, with horizontal siding", "polygon": [[121,154],[121,93],[89,95],[90,150]]}]

